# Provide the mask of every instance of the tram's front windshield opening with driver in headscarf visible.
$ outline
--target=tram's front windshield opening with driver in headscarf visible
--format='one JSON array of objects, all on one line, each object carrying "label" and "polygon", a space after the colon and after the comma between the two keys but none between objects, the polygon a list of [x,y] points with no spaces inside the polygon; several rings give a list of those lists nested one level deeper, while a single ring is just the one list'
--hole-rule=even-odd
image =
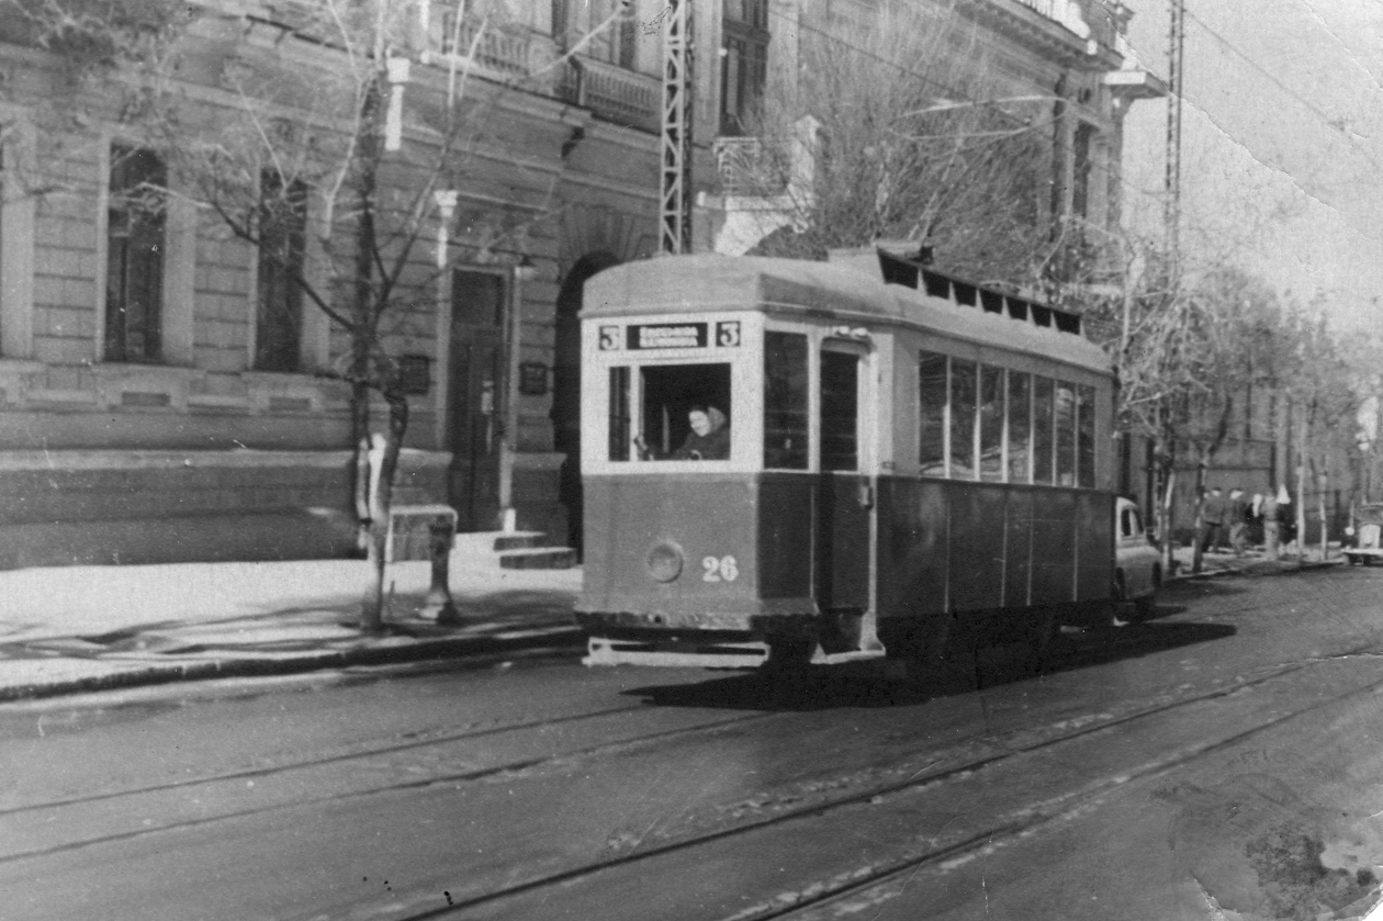
[{"label": "tram's front windshield opening with driver in headscarf visible", "polygon": [[[636,458],[729,461],[729,364],[649,365],[639,369],[639,427],[631,440]],[[611,431],[611,448],[613,438]]]}]

